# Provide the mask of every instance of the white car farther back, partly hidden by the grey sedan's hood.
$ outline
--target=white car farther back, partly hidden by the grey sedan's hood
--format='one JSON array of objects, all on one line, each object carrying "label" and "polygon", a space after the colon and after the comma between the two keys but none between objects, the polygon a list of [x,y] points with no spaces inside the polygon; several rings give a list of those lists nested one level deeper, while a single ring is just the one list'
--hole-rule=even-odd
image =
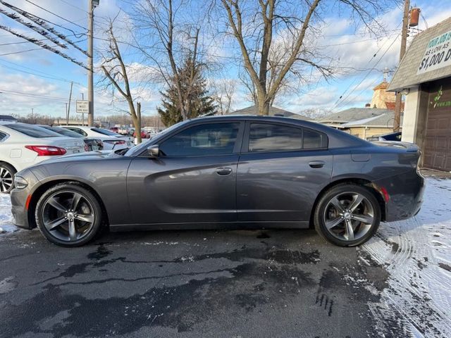
[{"label": "white car farther back, partly hidden by the grey sedan's hood", "polygon": [[78,132],[85,137],[96,137],[104,142],[104,150],[120,150],[133,146],[133,139],[129,136],[123,136],[111,130],[97,127],[87,127],[85,125],[60,125],[62,128]]}]

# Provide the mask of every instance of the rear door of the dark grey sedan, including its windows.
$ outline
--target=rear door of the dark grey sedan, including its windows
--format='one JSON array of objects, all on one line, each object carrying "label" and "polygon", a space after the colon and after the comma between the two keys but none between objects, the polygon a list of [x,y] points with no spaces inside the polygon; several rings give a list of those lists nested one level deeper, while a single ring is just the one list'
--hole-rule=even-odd
[{"label": "rear door of the dark grey sedan, including its windows", "polygon": [[332,161],[323,132],[249,121],[237,170],[238,220],[309,221]]}]

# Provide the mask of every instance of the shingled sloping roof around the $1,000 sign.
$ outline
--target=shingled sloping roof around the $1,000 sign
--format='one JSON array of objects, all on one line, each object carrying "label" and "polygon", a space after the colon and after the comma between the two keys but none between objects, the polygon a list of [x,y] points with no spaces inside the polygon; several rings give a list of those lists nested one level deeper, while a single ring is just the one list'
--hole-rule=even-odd
[{"label": "shingled sloping roof around the $1,000 sign", "polygon": [[443,77],[451,75],[451,65],[446,65],[443,68],[429,70],[426,73],[417,75],[424,53],[428,47],[429,42],[434,37],[438,37],[445,32],[451,30],[451,18],[443,20],[441,23],[419,33],[414,37],[412,44],[402,58],[400,66],[397,68],[393,79],[388,86],[388,91],[400,91],[404,88],[409,88],[417,84],[438,80]]}]

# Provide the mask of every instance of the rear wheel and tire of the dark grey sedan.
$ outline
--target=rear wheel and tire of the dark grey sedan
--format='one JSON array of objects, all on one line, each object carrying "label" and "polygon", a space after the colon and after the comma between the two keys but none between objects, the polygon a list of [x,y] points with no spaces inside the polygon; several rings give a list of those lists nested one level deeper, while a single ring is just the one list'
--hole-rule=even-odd
[{"label": "rear wheel and tire of the dark grey sedan", "polygon": [[[350,200],[350,196],[355,197],[353,200]],[[357,201],[357,196],[362,197],[361,204],[357,206],[359,209],[354,209],[356,213],[347,212],[350,211],[348,207],[353,207],[352,201]],[[340,201],[340,206],[335,207],[336,201],[334,198]],[[340,208],[342,208],[341,211],[339,210]],[[359,213],[362,213],[362,215],[359,215]],[[365,218],[366,223],[362,223],[355,218]],[[342,220],[340,221],[340,219]],[[340,223],[333,225],[337,222]],[[330,230],[326,227],[326,223],[333,225],[330,227]],[[316,232],[328,242],[338,246],[363,244],[376,233],[380,223],[381,206],[373,192],[369,188],[352,183],[338,184],[328,189],[319,199],[314,211]],[[352,235],[348,234],[348,224],[351,225],[352,231],[350,230],[350,233]],[[357,234],[362,231],[361,235],[355,235],[354,237],[355,230],[358,231]]]}]

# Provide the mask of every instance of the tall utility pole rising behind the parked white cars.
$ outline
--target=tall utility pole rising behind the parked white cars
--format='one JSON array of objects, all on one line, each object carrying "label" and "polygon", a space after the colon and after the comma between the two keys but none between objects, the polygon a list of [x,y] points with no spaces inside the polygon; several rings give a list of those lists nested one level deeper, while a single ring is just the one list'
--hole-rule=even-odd
[{"label": "tall utility pole rising behind the parked white cars", "polygon": [[92,126],[94,123],[94,65],[93,65],[93,29],[94,29],[94,6],[99,5],[99,0],[87,1],[87,101],[89,113],[87,113],[87,125]]}]

